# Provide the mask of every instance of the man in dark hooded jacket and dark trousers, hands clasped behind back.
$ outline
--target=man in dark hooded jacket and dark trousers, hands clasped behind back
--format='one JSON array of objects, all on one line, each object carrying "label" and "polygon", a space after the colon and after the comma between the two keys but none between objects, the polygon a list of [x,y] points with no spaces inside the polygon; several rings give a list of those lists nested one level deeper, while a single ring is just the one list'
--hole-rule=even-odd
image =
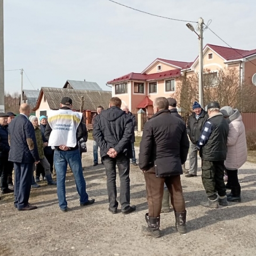
[{"label": "man in dark hooded jacket and dark trousers, hands clasped behind back", "polygon": [[120,178],[120,203],[123,214],[135,211],[130,206],[130,158],[132,158],[132,119],[121,109],[122,101],[110,99],[110,108],[102,110],[94,120],[93,137],[100,147],[106,169],[109,211],[117,213],[116,165]]}]

